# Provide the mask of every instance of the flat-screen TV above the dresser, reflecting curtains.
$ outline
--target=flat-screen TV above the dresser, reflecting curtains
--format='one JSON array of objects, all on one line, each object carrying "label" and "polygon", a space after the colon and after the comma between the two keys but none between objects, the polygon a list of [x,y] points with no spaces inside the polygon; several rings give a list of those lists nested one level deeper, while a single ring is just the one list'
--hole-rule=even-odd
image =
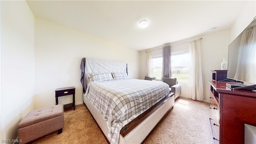
[{"label": "flat-screen TV above the dresser, reflecting curtains", "polygon": [[227,78],[256,86],[256,19],[228,46]]}]

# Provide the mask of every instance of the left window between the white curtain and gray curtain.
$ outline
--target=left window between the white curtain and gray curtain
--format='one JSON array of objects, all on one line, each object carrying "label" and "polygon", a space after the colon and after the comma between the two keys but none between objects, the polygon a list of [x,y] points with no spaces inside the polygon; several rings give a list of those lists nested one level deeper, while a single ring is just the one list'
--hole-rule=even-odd
[{"label": "left window between the white curtain and gray curtain", "polygon": [[152,56],[151,57],[151,74],[156,79],[162,79],[162,65],[163,65],[163,58],[162,56]]}]

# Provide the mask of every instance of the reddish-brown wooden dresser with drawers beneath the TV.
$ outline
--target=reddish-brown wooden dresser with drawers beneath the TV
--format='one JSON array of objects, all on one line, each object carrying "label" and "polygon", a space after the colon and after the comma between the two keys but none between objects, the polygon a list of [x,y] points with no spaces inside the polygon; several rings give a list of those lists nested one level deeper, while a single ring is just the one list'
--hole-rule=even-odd
[{"label": "reddish-brown wooden dresser with drawers beneath the TV", "polygon": [[214,144],[244,144],[244,124],[256,126],[256,92],[227,90],[226,82],[209,82]]}]

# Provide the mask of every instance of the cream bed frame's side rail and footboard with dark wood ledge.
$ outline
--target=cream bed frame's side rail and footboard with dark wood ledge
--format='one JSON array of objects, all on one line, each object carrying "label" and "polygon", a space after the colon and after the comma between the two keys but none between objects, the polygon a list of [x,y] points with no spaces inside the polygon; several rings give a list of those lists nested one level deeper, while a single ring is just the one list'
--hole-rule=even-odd
[{"label": "cream bed frame's side rail and footboard with dark wood ledge", "polygon": [[[94,118],[94,121],[100,128],[100,131],[104,135],[108,143],[108,126],[106,120],[103,120],[103,115],[93,106],[93,104],[83,95],[84,104],[87,106],[90,114]],[[161,122],[166,114],[174,106],[174,93],[170,93],[168,96],[160,100],[154,106],[146,110],[140,116],[126,124],[120,131],[118,143],[144,143],[154,130],[155,126]]]}]

